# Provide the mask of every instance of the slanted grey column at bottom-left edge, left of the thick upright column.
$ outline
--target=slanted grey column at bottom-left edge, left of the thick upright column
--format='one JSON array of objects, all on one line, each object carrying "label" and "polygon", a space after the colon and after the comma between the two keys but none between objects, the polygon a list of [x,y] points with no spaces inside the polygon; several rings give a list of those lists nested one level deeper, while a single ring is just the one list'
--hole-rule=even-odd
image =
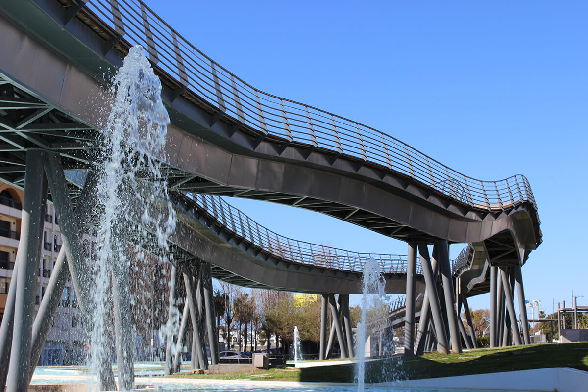
[{"label": "slanted grey column at bottom-left edge, left of the thick upright column", "polygon": [[[12,279],[6,296],[4,316],[0,325],[0,392],[6,387],[10,351],[12,349],[12,331],[14,330],[14,304],[16,301],[16,283],[18,282],[18,260],[12,270]],[[559,323],[558,323],[559,326]]]}]

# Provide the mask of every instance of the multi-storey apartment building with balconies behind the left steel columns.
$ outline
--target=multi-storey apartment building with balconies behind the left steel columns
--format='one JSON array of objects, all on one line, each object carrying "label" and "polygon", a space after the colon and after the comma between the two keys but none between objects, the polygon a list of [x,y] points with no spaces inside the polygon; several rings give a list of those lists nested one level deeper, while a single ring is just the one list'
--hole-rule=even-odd
[{"label": "multi-storey apartment building with balconies behind the left steel columns", "polygon": [[[0,323],[4,315],[18,243],[21,237],[23,192],[0,182]],[[61,232],[52,203],[47,203],[43,230],[41,258],[37,277],[35,312],[43,299],[49,277],[61,249]],[[74,286],[69,280],[55,313],[45,347],[39,359],[41,365],[74,364],[85,361],[86,334],[75,299]]]}]

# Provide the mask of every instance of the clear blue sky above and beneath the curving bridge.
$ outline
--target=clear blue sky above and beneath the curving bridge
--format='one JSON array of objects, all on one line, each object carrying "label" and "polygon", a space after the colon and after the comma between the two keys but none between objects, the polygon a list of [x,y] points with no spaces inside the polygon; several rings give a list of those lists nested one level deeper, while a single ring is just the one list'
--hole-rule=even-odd
[{"label": "clear blue sky above and beneath the curving bridge", "polygon": [[[527,176],[544,242],[523,267],[526,297],[547,313],[571,290],[588,305],[587,2],[146,3],[262,91],[365,123],[478,179]],[[406,252],[316,213],[233,205],[296,239]]]}]

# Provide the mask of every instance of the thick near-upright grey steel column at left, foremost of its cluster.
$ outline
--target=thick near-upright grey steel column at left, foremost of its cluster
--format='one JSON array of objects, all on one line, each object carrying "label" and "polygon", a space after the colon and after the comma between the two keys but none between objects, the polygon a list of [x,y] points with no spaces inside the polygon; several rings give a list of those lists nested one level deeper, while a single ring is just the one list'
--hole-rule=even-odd
[{"label": "thick near-upright grey steel column at left, foremost of its cluster", "polygon": [[18,244],[18,282],[14,306],[14,329],[9,362],[8,392],[26,391],[31,361],[31,338],[35,289],[47,200],[42,150],[26,151],[25,189],[22,203],[21,240]]}]

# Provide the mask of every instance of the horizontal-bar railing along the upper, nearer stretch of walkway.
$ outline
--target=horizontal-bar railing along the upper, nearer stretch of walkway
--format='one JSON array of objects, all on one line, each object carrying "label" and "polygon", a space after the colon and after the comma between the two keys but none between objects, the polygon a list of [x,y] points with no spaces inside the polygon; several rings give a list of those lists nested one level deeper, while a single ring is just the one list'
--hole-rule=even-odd
[{"label": "horizontal-bar railing along the upper, nearer stretch of walkway", "polygon": [[[193,93],[206,108],[283,148],[345,156],[359,165],[394,172],[463,205],[505,210],[529,202],[523,175],[480,181],[456,172],[400,140],[369,126],[253,88],[199,51],[139,0],[91,0],[81,11],[112,46],[142,45],[156,71]],[[108,48],[107,48],[108,49]],[[359,167],[359,166],[358,166]]]}]

